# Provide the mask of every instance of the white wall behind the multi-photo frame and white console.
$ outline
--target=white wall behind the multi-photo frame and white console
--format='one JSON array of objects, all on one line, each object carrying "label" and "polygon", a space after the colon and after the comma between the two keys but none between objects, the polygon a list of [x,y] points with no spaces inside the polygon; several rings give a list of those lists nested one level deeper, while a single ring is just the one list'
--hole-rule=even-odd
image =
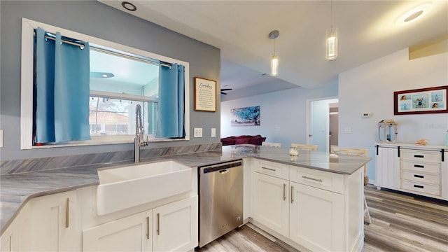
[{"label": "white wall behind the multi-photo frame and white console", "polygon": [[[374,158],[377,123],[393,119],[398,123],[398,141],[412,144],[428,139],[430,145],[444,146],[448,114],[393,115],[393,92],[448,85],[448,53],[408,59],[403,49],[386,57],[339,74],[339,146],[368,148]],[[361,113],[373,113],[361,118]],[[350,127],[352,133],[344,133]],[[374,181],[374,160],[367,165]]]}]

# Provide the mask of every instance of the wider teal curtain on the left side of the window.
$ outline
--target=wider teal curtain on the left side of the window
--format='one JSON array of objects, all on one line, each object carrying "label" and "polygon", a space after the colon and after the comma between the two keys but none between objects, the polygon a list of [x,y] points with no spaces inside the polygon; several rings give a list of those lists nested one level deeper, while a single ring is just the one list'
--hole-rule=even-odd
[{"label": "wider teal curtain on the left side of the window", "polygon": [[89,44],[62,43],[36,29],[36,143],[62,143],[90,139]]}]

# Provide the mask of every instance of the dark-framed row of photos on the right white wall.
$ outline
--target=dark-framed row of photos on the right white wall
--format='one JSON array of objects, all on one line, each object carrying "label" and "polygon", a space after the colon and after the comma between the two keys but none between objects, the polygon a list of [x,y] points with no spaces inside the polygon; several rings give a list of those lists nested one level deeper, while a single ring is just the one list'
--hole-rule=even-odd
[{"label": "dark-framed row of photos on the right white wall", "polygon": [[393,92],[393,114],[448,113],[448,86]]}]

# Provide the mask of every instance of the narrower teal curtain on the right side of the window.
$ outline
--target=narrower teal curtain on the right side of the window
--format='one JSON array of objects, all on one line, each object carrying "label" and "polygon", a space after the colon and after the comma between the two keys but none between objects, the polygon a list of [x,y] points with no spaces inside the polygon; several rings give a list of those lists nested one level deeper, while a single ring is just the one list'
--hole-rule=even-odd
[{"label": "narrower teal curtain on the right side of the window", "polygon": [[185,67],[172,64],[160,66],[160,106],[157,137],[182,138],[185,132]]}]

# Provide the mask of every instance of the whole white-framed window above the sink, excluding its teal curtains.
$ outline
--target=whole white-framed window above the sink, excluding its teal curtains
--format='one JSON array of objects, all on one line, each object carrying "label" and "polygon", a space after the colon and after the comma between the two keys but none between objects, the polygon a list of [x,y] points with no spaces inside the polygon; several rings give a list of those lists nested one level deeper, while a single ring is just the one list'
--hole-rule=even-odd
[{"label": "whole white-framed window above the sink, excluding its teal curtains", "polygon": [[[22,104],[21,148],[32,145],[33,127],[33,31],[37,27],[63,36],[90,43],[90,102],[89,141],[73,141],[63,146],[90,144],[118,144],[134,141],[135,107],[143,109],[144,130],[151,141],[188,140],[155,137],[160,125],[159,69],[170,64],[185,67],[185,132],[189,132],[189,64],[177,59],[155,55],[126,45],[104,41],[74,31],[22,19]],[[160,66],[161,62],[162,66]],[[165,64],[165,62],[169,62]],[[51,145],[61,146],[61,145]],[[40,147],[41,148],[41,147]]]}]

